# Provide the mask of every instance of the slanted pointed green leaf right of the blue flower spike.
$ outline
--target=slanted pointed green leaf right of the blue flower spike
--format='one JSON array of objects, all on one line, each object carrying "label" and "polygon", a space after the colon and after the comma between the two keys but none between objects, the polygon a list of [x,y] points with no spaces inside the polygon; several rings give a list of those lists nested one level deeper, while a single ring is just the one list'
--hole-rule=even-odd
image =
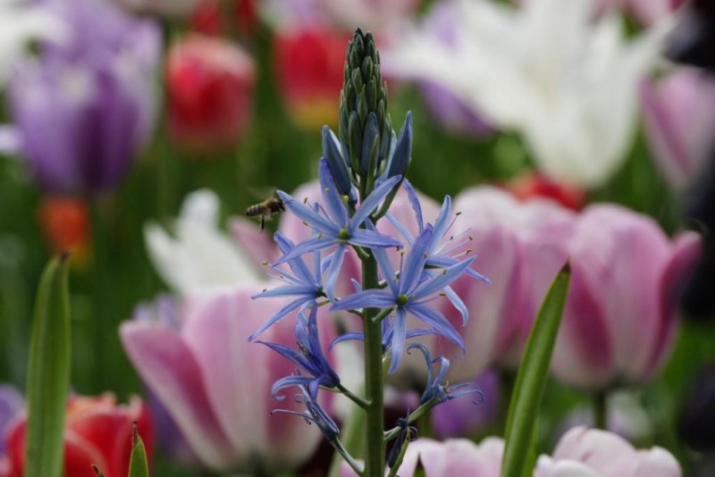
[{"label": "slanted pointed green leaf right of the blue flower spike", "polygon": [[528,462],[533,461],[528,457],[534,455],[536,420],[549,377],[551,354],[559,334],[570,276],[571,270],[566,264],[551,283],[521,358],[509,404],[501,477],[521,477],[528,472]]}]

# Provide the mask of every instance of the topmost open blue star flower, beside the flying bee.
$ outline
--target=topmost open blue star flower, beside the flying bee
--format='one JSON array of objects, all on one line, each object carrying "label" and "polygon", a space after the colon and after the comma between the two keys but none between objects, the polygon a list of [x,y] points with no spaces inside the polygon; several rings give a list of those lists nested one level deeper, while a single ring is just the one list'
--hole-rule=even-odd
[{"label": "topmost open blue star flower, beside the flying bee", "polygon": [[348,252],[348,245],[368,248],[402,247],[402,243],[397,238],[388,237],[376,230],[361,228],[370,213],[374,212],[375,208],[387,197],[391,189],[400,182],[400,177],[396,176],[390,180],[385,180],[380,187],[375,188],[372,194],[366,197],[357,208],[352,217],[349,215],[346,201],[341,196],[340,190],[335,186],[334,180],[332,180],[332,174],[324,158],[318,163],[318,177],[325,208],[319,207],[318,210],[315,210],[310,205],[303,204],[285,192],[278,191],[278,196],[281,197],[285,207],[306,222],[317,233],[292,247],[275,264],[289,262],[307,252],[336,247],[332,254],[332,261],[325,280],[325,294],[333,301],[332,291],[340,272],[343,258]]}]

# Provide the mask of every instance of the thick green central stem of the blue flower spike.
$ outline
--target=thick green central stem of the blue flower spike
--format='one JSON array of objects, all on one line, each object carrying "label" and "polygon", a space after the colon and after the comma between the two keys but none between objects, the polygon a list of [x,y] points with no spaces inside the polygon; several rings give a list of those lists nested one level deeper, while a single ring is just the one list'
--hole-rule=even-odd
[{"label": "thick green central stem of the blue flower spike", "polygon": [[[377,263],[374,257],[362,263],[363,289],[378,286]],[[379,309],[366,308],[363,316],[365,334],[365,386],[367,407],[365,476],[382,477],[385,468],[383,442],[383,330],[373,318]]]}]

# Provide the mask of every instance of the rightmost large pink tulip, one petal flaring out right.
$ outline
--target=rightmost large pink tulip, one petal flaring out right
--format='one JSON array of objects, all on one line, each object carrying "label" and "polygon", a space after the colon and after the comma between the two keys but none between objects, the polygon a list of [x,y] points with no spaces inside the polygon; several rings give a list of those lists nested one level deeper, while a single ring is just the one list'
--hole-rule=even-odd
[{"label": "rightmost large pink tulip, one petal flaring out right", "polygon": [[700,255],[694,232],[670,241],[652,219],[618,205],[585,209],[570,245],[554,374],[585,389],[648,380],[667,354],[678,291]]}]

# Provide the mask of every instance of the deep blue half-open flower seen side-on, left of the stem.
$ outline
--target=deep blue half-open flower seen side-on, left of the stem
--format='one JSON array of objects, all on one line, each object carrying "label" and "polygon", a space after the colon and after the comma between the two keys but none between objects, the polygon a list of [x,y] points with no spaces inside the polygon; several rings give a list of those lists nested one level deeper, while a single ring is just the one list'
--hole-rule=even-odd
[{"label": "deep blue half-open flower seen side-on, left of the stem", "polygon": [[317,398],[318,389],[321,386],[325,388],[334,388],[340,384],[341,380],[338,374],[332,370],[330,363],[323,353],[323,348],[320,346],[320,338],[318,336],[317,324],[318,307],[313,303],[310,308],[310,316],[306,318],[306,314],[301,312],[298,314],[298,322],[296,323],[296,339],[298,339],[298,349],[292,349],[277,343],[266,343],[265,341],[257,341],[267,347],[287,357],[295,364],[298,364],[309,375],[298,374],[295,376],[287,376],[278,381],[275,381],[271,392],[276,399],[282,399],[278,396],[278,392],[283,388],[290,386],[306,386],[310,397],[315,400]]}]

